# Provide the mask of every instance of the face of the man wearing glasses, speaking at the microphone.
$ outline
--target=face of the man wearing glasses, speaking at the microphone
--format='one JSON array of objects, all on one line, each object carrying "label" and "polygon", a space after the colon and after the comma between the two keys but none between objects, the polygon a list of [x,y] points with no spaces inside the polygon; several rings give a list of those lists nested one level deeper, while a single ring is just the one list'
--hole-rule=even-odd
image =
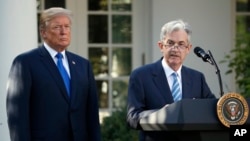
[{"label": "face of the man wearing glasses, speaking at the microphone", "polygon": [[184,30],[173,31],[166,35],[164,41],[158,42],[158,46],[166,63],[175,71],[182,65],[192,47]]}]

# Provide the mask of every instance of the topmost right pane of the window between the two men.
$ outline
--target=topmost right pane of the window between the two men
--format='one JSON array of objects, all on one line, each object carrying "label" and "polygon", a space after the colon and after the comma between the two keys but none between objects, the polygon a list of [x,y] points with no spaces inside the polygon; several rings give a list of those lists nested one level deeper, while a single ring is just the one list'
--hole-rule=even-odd
[{"label": "topmost right pane of the window between the two men", "polygon": [[113,11],[131,11],[131,0],[112,0]]}]

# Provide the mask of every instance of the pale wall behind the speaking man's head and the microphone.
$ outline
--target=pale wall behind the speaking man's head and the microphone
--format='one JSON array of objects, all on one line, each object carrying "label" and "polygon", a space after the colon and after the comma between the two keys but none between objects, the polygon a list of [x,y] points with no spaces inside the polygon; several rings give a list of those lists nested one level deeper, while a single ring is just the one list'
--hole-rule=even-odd
[{"label": "pale wall behind the speaking man's head and the microphone", "polygon": [[[225,55],[232,48],[233,15],[230,0],[154,0],[152,1],[152,60],[161,56],[157,41],[160,28],[165,22],[175,19],[187,21],[193,30],[193,48],[200,46],[205,51],[210,50],[217,62],[223,81],[224,92],[235,91],[232,76],[225,76],[228,67],[220,64]],[[185,65],[200,70],[206,76],[211,90],[219,97],[220,89],[215,67],[198,58],[193,49]],[[227,88],[228,87],[228,88]]]}]

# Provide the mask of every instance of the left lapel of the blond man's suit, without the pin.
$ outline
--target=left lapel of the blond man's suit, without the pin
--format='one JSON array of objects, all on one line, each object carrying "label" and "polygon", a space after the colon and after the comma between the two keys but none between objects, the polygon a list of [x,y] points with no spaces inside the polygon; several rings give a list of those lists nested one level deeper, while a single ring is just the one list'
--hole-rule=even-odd
[{"label": "left lapel of the blond man's suit, without the pin", "polygon": [[62,91],[63,97],[69,103],[70,101],[69,101],[69,97],[67,95],[66,87],[64,86],[63,79],[62,79],[62,77],[60,75],[60,72],[58,71],[58,68],[56,67],[56,64],[54,63],[54,61],[51,58],[49,52],[45,49],[44,46],[39,47],[39,48],[40,48],[41,62],[49,70],[49,72],[51,73],[51,77],[54,78],[56,85]]}]

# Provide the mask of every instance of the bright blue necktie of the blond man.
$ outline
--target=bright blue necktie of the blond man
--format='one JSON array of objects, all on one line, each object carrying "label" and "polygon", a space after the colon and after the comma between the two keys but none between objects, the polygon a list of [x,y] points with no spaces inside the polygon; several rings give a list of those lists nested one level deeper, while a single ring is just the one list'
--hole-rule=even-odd
[{"label": "bright blue necktie of the blond man", "polygon": [[67,89],[68,95],[70,96],[70,78],[62,63],[63,55],[61,53],[57,53],[56,58],[57,58],[57,68],[60,71],[65,87]]}]

